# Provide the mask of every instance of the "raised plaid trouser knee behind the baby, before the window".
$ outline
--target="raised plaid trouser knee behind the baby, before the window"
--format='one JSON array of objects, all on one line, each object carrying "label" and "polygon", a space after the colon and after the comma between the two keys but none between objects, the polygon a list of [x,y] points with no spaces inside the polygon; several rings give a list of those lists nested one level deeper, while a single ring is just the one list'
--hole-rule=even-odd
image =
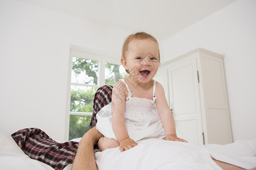
[{"label": "raised plaid trouser knee behind the baby, before the window", "polygon": [[112,101],[112,89],[113,86],[101,86],[98,88],[93,100],[93,114],[92,120],[90,120],[90,129],[92,129],[97,124],[96,114],[105,105],[108,105]]}]

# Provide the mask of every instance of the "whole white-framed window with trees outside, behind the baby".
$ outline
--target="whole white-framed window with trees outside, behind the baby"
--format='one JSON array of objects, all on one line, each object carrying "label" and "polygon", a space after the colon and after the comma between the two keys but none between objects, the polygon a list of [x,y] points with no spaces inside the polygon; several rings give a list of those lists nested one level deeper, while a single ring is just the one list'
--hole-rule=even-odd
[{"label": "whole white-framed window with trees outside, behind the baby", "polygon": [[98,87],[104,84],[113,86],[126,76],[125,69],[116,61],[116,58],[71,51],[67,114],[69,140],[80,138],[89,130]]}]

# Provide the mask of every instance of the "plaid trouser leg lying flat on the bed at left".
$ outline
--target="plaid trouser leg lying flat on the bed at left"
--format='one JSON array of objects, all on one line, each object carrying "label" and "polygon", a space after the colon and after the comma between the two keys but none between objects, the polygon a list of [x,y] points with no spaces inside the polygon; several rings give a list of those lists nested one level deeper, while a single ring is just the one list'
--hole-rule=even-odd
[{"label": "plaid trouser leg lying flat on the bed at left", "polygon": [[59,143],[53,141],[44,131],[28,128],[11,135],[22,151],[32,159],[46,163],[55,169],[64,169],[73,163],[79,142]]}]

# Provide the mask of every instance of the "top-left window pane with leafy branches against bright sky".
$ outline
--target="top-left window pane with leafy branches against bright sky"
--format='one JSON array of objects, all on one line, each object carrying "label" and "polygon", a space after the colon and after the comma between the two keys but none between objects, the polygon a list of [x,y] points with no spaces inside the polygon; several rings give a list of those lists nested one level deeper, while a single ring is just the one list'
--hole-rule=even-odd
[{"label": "top-left window pane with leafy branches against bright sky", "polygon": [[72,83],[98,84],[98,61],[73,57]]}]

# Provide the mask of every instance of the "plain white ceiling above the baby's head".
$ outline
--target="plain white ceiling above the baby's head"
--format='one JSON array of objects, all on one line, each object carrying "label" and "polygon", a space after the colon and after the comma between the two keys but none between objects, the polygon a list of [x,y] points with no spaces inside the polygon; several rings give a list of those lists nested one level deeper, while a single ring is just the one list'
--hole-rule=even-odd
[{"label": "plain white ceiling above the baby's head", "polygon": [[17,0],[159,40],[237,0]]}]

